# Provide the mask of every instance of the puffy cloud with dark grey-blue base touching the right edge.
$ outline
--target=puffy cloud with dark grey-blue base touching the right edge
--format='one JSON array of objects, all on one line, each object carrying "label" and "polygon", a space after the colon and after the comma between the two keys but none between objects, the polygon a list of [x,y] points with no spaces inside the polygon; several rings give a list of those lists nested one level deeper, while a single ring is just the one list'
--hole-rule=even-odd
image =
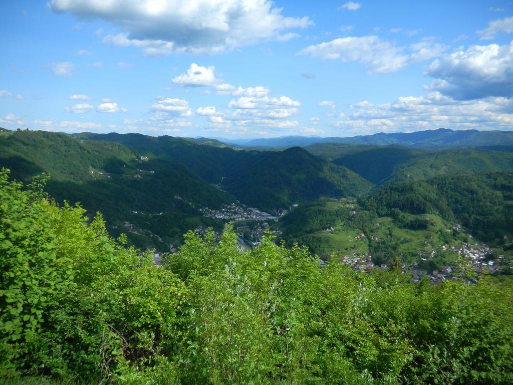
[{"label": "puffy cloud with dark grey-blue base touching the right edge", "polygon": [[428,89],[459,100],[513,97],[513,42],[470,46],[431,63]]}]

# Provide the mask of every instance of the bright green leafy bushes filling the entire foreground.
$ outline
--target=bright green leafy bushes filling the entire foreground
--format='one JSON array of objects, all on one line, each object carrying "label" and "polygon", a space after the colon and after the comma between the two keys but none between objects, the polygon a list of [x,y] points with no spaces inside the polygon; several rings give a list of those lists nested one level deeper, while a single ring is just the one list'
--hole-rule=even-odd
[{"label": "bright green leafy bushes filling the entire foreground", "polygon": [[513,381],[513,285],[359,274],[228,227],[152,264],[0,174],[0,375],[75,382]]}]

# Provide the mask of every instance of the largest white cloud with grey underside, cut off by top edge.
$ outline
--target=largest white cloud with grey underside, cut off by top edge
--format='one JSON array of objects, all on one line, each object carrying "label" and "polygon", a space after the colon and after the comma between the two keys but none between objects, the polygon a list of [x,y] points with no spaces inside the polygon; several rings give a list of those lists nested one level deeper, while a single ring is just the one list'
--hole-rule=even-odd
[{"label": "largest white cloud with grey underside, cut off by top edge", "polygon": [[147,55],[216,53],[262,40],[287,40],[294,33],[285,31],[313,24],[308,17],[283,16],[269,0],[199,0],[194,6],[187,0],[51,0],[48,4],[55,12],[111,23],[122,33],[106,36],[105,43],[141,47]]}]

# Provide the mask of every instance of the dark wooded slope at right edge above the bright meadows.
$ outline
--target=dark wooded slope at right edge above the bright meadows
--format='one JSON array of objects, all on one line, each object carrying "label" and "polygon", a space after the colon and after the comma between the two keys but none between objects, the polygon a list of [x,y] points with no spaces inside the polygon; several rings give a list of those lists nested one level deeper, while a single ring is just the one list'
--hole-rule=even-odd
[{"label": "dark wooded slope at right edge above the bright meadows", "polygon": [[[513,173],[443,176],[384,187],[362,205],[379,216],[394,209],[410,214],[436,214],[459,222],[483,241],[509,243],[513,233]],[[504,236],[506,235],[506,239]]]}]

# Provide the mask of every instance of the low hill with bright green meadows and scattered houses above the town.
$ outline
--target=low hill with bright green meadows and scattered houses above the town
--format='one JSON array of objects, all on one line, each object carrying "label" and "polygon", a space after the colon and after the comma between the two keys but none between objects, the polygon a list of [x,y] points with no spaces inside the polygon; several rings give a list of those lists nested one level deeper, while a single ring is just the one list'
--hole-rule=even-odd
[{"label": "low hill with bright green meadows and scattered houses above the town", "polygon": [[437,258],[425,266],[428,271],[454,264],[457,255],[446,249],[468,241],[464,233],[452,231],[453,223],[437,215],[398,211],[376,215],[347,199],[324,199],[300,206],[280,219],[276,227],[287,245],[297,242],[327,259],[332,255],[370,256],[373,263],[381,265],[397,256],[410,265],[435,250]]}]

